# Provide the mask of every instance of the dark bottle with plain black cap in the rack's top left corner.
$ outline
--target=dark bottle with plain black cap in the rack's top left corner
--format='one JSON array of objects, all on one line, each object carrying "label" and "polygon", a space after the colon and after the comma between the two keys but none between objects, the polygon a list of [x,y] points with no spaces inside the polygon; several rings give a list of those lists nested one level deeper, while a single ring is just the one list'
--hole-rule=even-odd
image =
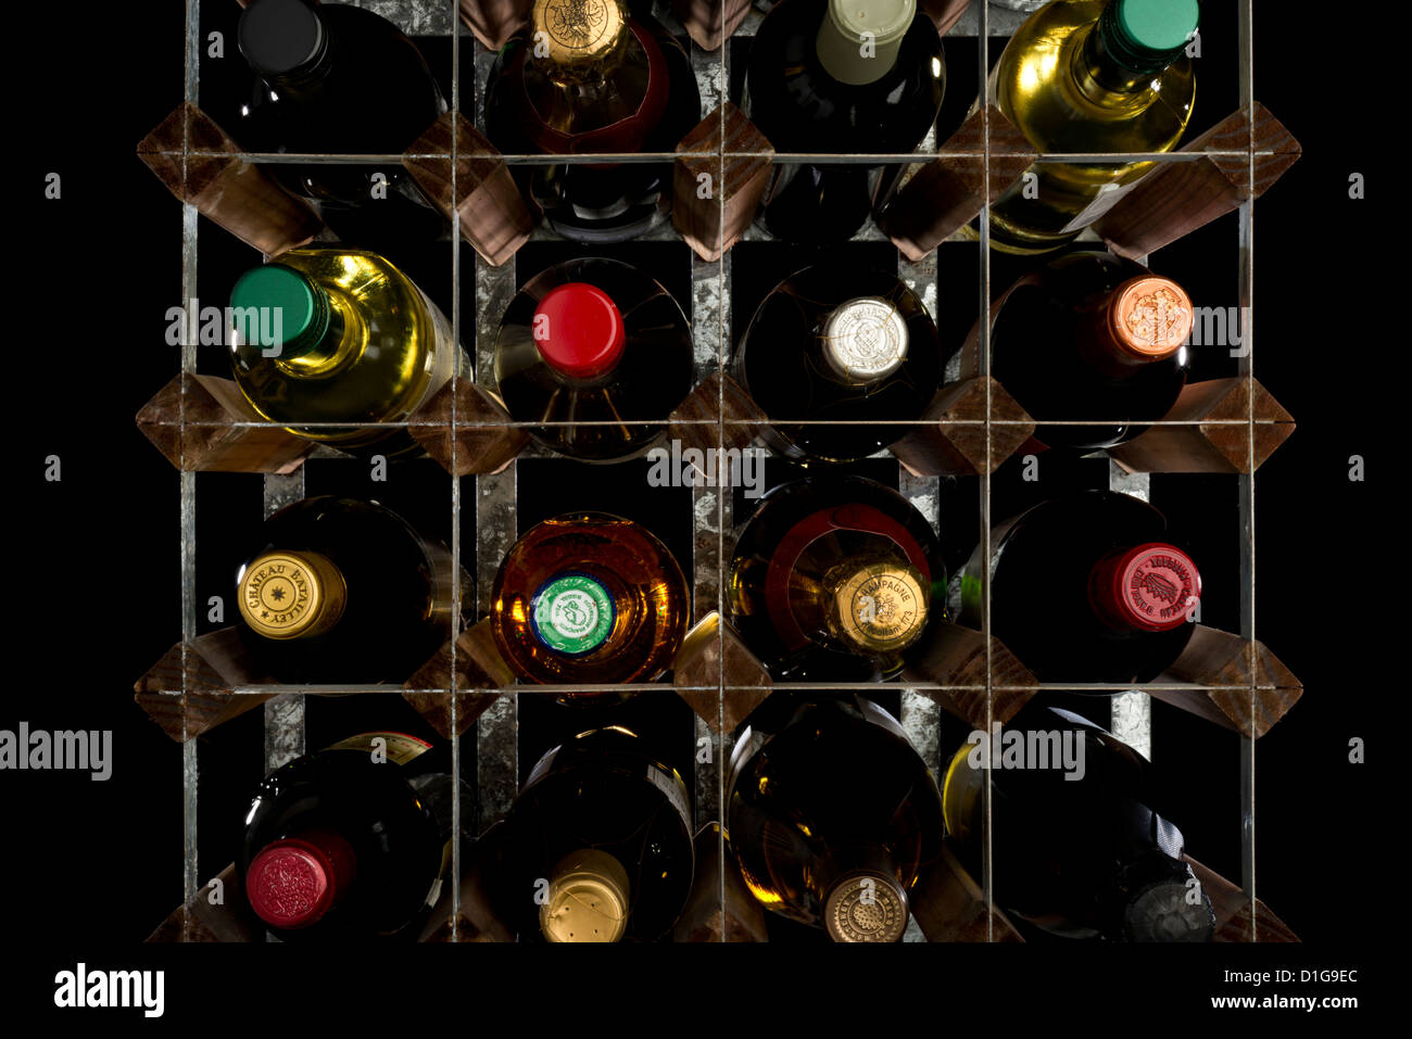
[{"label": "dark bottle with plain black cap in the rack's top left corner", "polygon": [[[236,133],[257,151],[395,155],[446,110],[417,45],[373,11],[251,0],[237,40],[258,83]],[[446,224],[398,162],[277,164],[270,172],[319,202],[345,240],[433,239]]]}]

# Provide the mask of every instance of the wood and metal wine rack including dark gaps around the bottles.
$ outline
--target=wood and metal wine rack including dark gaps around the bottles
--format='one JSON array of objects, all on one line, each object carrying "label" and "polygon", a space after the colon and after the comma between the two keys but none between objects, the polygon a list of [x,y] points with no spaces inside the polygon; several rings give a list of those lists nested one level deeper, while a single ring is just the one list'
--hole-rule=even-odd
[{"label": "wood and metal wine rack including dark gaps around the bottles", "polygon": [[[635,510],[650,522],[655,517],[672,527],[675,538],[661,529],[658,534],[676,552],[692,586],[695,628],[678,658],[675,685],[662,680],[626,687],[644,693],[640,700],[658,697],[674,704],[662,709],[662,717],[675,719],[674,738],[685,748],[681,757],[700,830],[698,847],[707,867],[700,874],[710,878],[717,892],[714,901],[707,898],[709,912],[700,916],[706,920],[714,912],[714,923],[679,927],[678,937],[757,940],[765,933],[764,923],[754,916],[758,906],[741,908],[729,858],[723,858],[724,839],[719,826],[712,829],[722,817],[731,731],[771,687],[789,687],[772,686],[720,621],[723,567],[730,558],[733,531],[748,514],[750,501],[740,488],[650,488],[641,459],[607,467],[558,460],[532,443],[477,388],[477,383],[489,384],[491,378],[496,328],[517,287],[551,263],[589,251],[532,226],[524,200],[514,191],[508,171],[544,160],[497,155],[484,138],[481,88],[494,58],[490,47],[513,31],[527,4],[518,0],[354,3],[397,21],[424,45],[435,58],[433,71],[446,78],[450,110],[404,155],[306,158],[405,168],[453,219],[457,240],[428,246],[417,258],[414,277],[449,315],[463,344],[463,364],[453,383],[407,424],[431,460],[394,460],[388,463],[385,483],[369,481],[364,462],[311,448],[241,411],[239,392],[232,395],[233,387],[215,374],[215,367],[191,343],[181,347],[179,371],[138,415],[138,425],[178,470],[174,479],[181,488],[182,529],[179,641],[137,685],[140,704],[182,743],[186,905],[152,937],[260,937],[241,929],[232,913],[210,906],[205,896],[206,881],[225,861],[210,861],[203,854],[206,830],[217,826],[219,819],[206,817],[201,792],[203,779],[223,768],[227,758],[239,757],[243,778],[253,782],[257,769],[278,767],[321,745],[312,733],[315,714],[326,726],[352,697],[380,703],[388,711],[405,711],[412,720],[408,724],[424,724],[429,733],[452,740],[453,767],[474,791],[470,803],[457,793],[455,815],[480,833],[504,816],[532,755],[548,750],[548,745],[525,745],[534,720],[530,716],[542,719],[575,710],[539,697],[531,704],[531,687],[510,683],[483,627],[449,642],[402,690],[287,687],[263,682],[244,659],[233,630],[203,620],[208,587],[216,580],[206,575],[220,572],[216,563],[203,560],[212,542],[201,536],[203,517],[219,512],[257,522],[260,514],[268,515],[306,493],[323,493],[330,484],[352,490],[361,481],[354,493],[395,508],[417,503],[414,508],[424,515],[442,514],[431,529],[450,545],[473,584],[476,615],[483,617],[500,559],[518,532],[552,512],[549,488],[582,490],[602,481],[607,490],[599,488],[600,497],[623,493],[621,511],[631,515]],[[291,199],[261,172],[261,165],[281,157],[241,152],[201,107],[202,89],[216,76],[205,56],[206,32],[213,25],[232,24],[229,17],[217,18],[216,8],[222,7],[236,7],[236,0],[188,0],[185,97],[138,147],[140,158],[181,202],[179,210],[164,210],[154,227],[169,234],[174,253],[179,240],[184,301],[201,296],[202,287],[219,287],[227,271],[239,270],[239,263],[256,263],[258,256],[251,248],[277,256],[329,236],[313,209]],[[806,263],[750,220],[771,162],[782,158],[737,107],[741,48],[748,47],[761,8],[768,4],[748,7],[726,0],[729,35],[717,49],[702,47],[722,35],[709,17],[710,3],[658,0],[651,7],[669,30],[683,40],[689,37],[703,121],[676,152],[645,157],[676,162],[672,223],[642,240],[599,251],[650,270],[676,295],[690,320],[696,390],[674,412],[668,436],[702,449],[738,449],[751,443],[762,415],[726,374],[727,360],[760,295]],[[946,28],[947,59],[953,62],[947,104],[938,128],[916,154],[890,157],[919,171],[888,219],[881,227],[870,222],[854,241],[840,248],[895,264],[898,275],[926,302],[943,335],[959,342],[988,309],[993,289],[1005,277],[1004,264],[987,248],[984,219],[979,222],[979,241],[964,230],[1036,158],[995,109],[966,113],[970,99],[984,89],[984,71],[1021,16],[983,0],[969,4],[935,0],[921,10]],[[933,771],[943,765],[956,731],[988,730],[1032,696],[1075,690],[1108,693],[1113,731],[1144,752],[1151,752],[1154,716],[1161,713],[1161,709],[1154,711],[1154,700],[1210,723],[1213,731],[1234,731],[1241,805],[1240,850],[1234,858],[1240,878],[1231,882],[1196,863],[1193,867],[1216,902],[1219,937],[1241,942],[1295,940],[1257,898],[1254,762],[1257,738],[1300,695],[1298,679],[1257,641],[1255,631],[1255,470],[1293,431],[1293,418],[1255,380],[1255,326],[1250,309],[1252,220],[1257,198],[1298,158],[1299,148],[1255,100],[1251,17],[1251,0],[1234,0],[1223,6],[1223,20],[1213,18],[1238,42],[1236,61],[1223,73],[1228,96],[1216,90],[1214,96],[1203,97],[1197,124],[1187,136],[1190,144],[1152,155],[1158,168],[1145,182],[1148,186],[1134,192],[1097,227],[1115,251],[1139,260],[1159,247],[1190,243],[1199,236],[1202,248],[1219,257],[1226,271],[1224,284],[1233,287],[1228,298],[1238,301],[1243,322],[1238,356],[1233,354],[1220,371],[1189,387],[1172,414],[1108,457],[1072,466],[1042,460],[1046,470],[1058,467],[1060,477],[1036,486],[1046,490],[1101,486],[1158,498],[1163,505],[1185,497],[1186,488],[1197,487],[1209,501],[1220,503],[1219,525],[1227,535],[1221,543],[1230,549],[1224,555],[1230,558],[1233,576],[1213,597],[1216,625],[1200,627],[1178,665],[1141,690],[1038,685],[1000,642],[962,628],[949,632],[899,683],[860,687],[895,697],[890,703],[899,707],[904,728]],[[1207,35],[1214,31],[1214,25],[1206,30]],[[233,40],[227,45],[233,51]],[[239,58],[227,58],[222,73],[237,64]],[[1223,112],[1214,112],[1219,104],[1226,104]],[[1234,114],[1221,119],[1227,112]],[[614,157],[618,158],[644,157]],[[836,155],[813,161],[877,162],[878,158]],[[585,157],[563,161],[585,161]],[[714,174],[719,185],[705,199],[693,191],[703,174]],[[202,219],[203,215],[209,219]],[[1096,236],[1090,230],[1087,237]],[[771,274],[778,277],[771,280]],[[939,528],[949,569],[964,558],[957,553],[969,552],[977,542],[984,546],[983,556],[988,556],[993,522],[1018,511],[1027,500],[1038,500],[1034,494],[1039,493],[1018,474],[1028,456],[1025,445],[1034,422],[988,374],[986,322],[980,322],[973,364],[963,363],[960,354],[953,359],[946,385],[923,421],[909,424],[897,448],[854,467],[895,486]],[[617,470],[616,477],[602,476],[610,469]],[[779,460],[767,463],[770,483],[788,472],[789,466]],[[572,476],[561,480],[566,473]],[[1199,483],[1180,484],[1183,480]],[[531,508],[527,501],[532,501]],[[566,493],[561,504],[572,508],[583,503],[569,500]],[[1189,510],[1185,518],[1195,517]],[[986,617],[988,630],[988,607]],[[1220,625],[1230,631],[1221,631]],[[534,692],[552,695],[572,687],[537,686]],[[257,738],[257,730],[263,740],[258,762],[249,754],[222,750],[236,740]],[[457,847],[453,872],[473,878],[472,864],[463,858],[466,854]],[[722,861],[727,863],[724,868]],[[220,877],[227,884],[233,879],[229,870]],[[433,940],[494,937],[494,927],[469,905],[476,895],[474,884],[467,884],[449,896],[439,925],[428,935]],[[947,855],[923,879],[918,894],[909,940],[1018,937],[1004,915],[990,905],[988,870],[970,877]]]}]

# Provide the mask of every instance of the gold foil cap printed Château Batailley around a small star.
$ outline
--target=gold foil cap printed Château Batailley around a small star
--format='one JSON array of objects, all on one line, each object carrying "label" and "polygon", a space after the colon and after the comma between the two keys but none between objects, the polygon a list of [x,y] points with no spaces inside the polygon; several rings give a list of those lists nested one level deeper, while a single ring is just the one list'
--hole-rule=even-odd
[{"label": "gold foil cap printed Ch\u00e2teau Batailley around a small star", "polygon": [[267,552],[240,579],[240,615],[257,635],[306,638],[343,615],[343,575],[318,552]]}]

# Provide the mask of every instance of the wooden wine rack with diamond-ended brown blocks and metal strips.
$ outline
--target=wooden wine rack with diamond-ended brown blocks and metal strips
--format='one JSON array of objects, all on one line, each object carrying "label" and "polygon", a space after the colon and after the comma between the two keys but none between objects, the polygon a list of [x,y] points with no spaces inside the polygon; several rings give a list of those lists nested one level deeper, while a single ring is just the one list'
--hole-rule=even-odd
[{"label": "wooden wine rack with diamond-ended brown blocks and metal strips", "polygon": [[[232,1],[189,0],[191,25],[201,25],[202,7]],[[390,17],[408,7],[381,0],[346,1],[385,8]],[[1237,6],[1238,54],[1250,54],[1251,0],[1238,0]],[[473,32],[473,38],[460,35],[460,45],[450,48],[450,73],[453,83],[474,79],[474,104],[463,106],[470,92],[453,86],[448,99],[450,110],[428,127],[405,155],[319,155],[311,161],[400,164],[477,253],[479,258],[472,261],[463,260],[462,250],[450,248],[448,271],[455,287],[448,315],[457,340],[474,347],[467,352],[463,374],[407,425],[448,473],[452,529],[459,531],[466,521],[476,531],[474,546],[453,535],[450,548],[457,560],[474,559],[472,600],[476,615],[483,617],[490,606],[498,560],[521,532],[517,511],[521,469],[548,457],[548,452],[532,443],[525,429],[511,422],[487,392],[493,383],[496,329],[518,285],[520,253],[559,240],[534,224],[531,206],[520,198],[510,176],[513,168],[535,158],[500,155],[484,137],[480,86],[494,58],[491,48],[514,32],[528,0],[425,0],[411,7],[415,24],[402,25],[409,35],[455,38],[462,23]],[[964,0],[923,0],[922,8],[947,30],[947,45],[955,48],[950,54],[962,55],[974,48],[974,68],[979,69],[988,68],[1004,37],[1018,24],[1018,16],[981,0],[969,4]],[[658,0],[654,13],[683,40],[689,34],[686,45],[700,88],[703,116],[702,124],[675,152],[659,157],[676,164],[675,212],[672,223],[645,237],[650,243],[689,246],[681,248],[679,263],[689,268],[682,271],[690,285],[683,304],[688,304],[695,337],[696,390],[672,414],[669,436],[702,449],[738,449],[754,442],[764,416],[727,370],[733,329],[740,328],[743,316],[733,313],[737,258],[733,250],[740,243],[762,247],[757,243],[770,241],[751,217],[771,165],[784,158],[736,107],[738,96],[729,88],[731,68],[738,61],[733,45],[754,34],[761,11],[737,0],[723,0],[723,8],[713,8],[712,0]],[[313,208],[287,195],[263,171],[261,167],[277,157],[241,152],[201,110],[202,54],[202,38],[193,30],[186,47],[186,96],[138,145],[141,161],[181,202],[186,301],[196,295],[208,234],[208,224],[198,216],[209,217],[265,257],[329,237]],[[953,79],[949,89],[974,95],[979,80],[980,76],[974,83]],[[1299,148],[1254,100],[1248,62],[1240,68],[1240,95],[1241,104],[1234,114],[1207,120],[1203,123],[1211,127],[1207,133],[1197,133],[1182,151],[1159,157],[1147,186],[1132,192],[1099,224],[1099,233],[1111,248],[1142,260],[1152,250],[1226,213],[1237,215],[1240,240],[1247,240],[1255,199],[1298,158]],[[1199,114],[1209,113],[1199,110]],[[840,155],[823,161],[875,162],[877,158]],[[933,316],[942,306],[974,308],[977,299],[991,299],[995,285],[986,248],[984,208],[1031,162],[1051,157],[1036,157],[994,107],[984,107],[962,121],[946,140],[938,141],[932,134],[914,155],[891,158],[909,164],[911,178],[887,208],[882,226],[870,223],[856,236],[858,247],[891,248],[899,277],[923,298]],[[599,157],[566,161],[589,160],[602,161]],[[703,174],[716,185],[705,195],[695,191]],[[168,213],[174,251],[176,212]],[[981,217],[979,243],[964,234],[976,217]],[[1097,236],[1090,233],[1089,237]],[[631,248],[624,247],[624,254]],[[966,250],[973,254],[979,280],[974,298],[957,301],[947,294],[949,287],[940,284],[940,250],[947,257]],[[1240,304],[1248,313],[1252,250],[1237,248],[1231,240],[1230,261],[1238,267]],[[463,278],[466,264],[472,264],[473,271]],[[463,285],[469,289],[465,294]],[[1250,332],[1247,326],[1243,340],[1247,344]],[[952,364],[923,421],[911,424],[898,446],[882,457],[895,460],[899,491],[933,524],[940,515],[943,494],[973,493],[983,555],[988,556],[988,531],[993,522],[1005,518],[991,514],[995,473],[1007,459],[1024,453],[1034,422],[988,374],[986,322],[980,322],[977,337],[976,363],[969,370],[959,360]],[[184,755],[185,905],[154,932],[152,940],[258,940],[261,936],[232,909],[239,899],[233,868],[219,874],[226,888],[223,908],[212,905],[210,887],[201,881],[209,875],[209,864],[199,860],[196,827],[203,740],[226,721],[263,706],[264,764],[275,768],[305,751],[306,696],[388,690],[273,686],[251,668],[232,628],[201,631],[196,515],[202,496],[196,473],[264,473],[264,507],[270,514],[304,497],[309,470],[326,464],[336,452],[311,450],[308,443],[273,424],[256,421],[229,380],[198,373],[196,346],[189,343],[181,347],[179,371],[141,409],[137,421],[179,473],[182,524],[181,638],[137,683],[138,703],[168,734],[182,741]],[[1250,779],[1255,740],[1279,721],[1302,692],[1288,668],[1255,639],[1254,545],[1248,522],[1254,514],[1255,469],[1292,429],[1293,419],[1255,380],[1254,353],[1247,349],[1237,376],[1219,384],[1189,387],[1171,415],[1142,438],[1110,453],[1110,486],[1139,497],[1149,493],[1154,479],[1149,474],[1158,474],[1156,480],[1168,479],[1168,473],[1227,474],[1244,521],[1240,631],[1200,627],[1178,665],[1142,689],[1084,687],[1084,692],[1111,695],[1114,731],[1144,752],[1148,752],[1151,737],[1151,699],[1240,734],[1243,881],[1231,884],[1193,863],[1216,903],[1220,940],[1298,940],[1255,896],[1255,800]],[[370,486],[370,493],[374,490]],[[566,501],[565,507],[572,504]],[[695,738],[710,748],[709,761],[688,779],[700,830],[702,875],[707,878],[707,891],[719,889],[723,901],[714,905],[709,899],[705,903],[699,898],[693,901],[678,927],[679,940],[760,940],[765,933],[758,906],[748,898],[746,902],[738,898],[743,894],[738,877],[733,875],[717,823],[724,798],[724,762],[730,759],[736,727],[771,690],[791,686],[771,683],[758,661],[722,621],[724,566],[733,534],[743,520],[736,515],[734,505],[731,494],[716,487],[692,488],[693,552],[682,562],[692,577],[695,628],[678,658],[675,683],[630,687],[650,696],[675,693],[685,699],[695,711]],[[939,534],[943,543],[952,536],[947,529]],[[988,728],[993,721],[1011,717],[1027,700],[1060,690],[1060,686],[1036,683],[1022,662],[987,631],[988,606],[981,631],[943,625],[935,644],[902,679],[907,687],[901,693],[901,723],[933,771],[940,769],[950,750],[940,743],[942,711],[974,728]],[[452,741],[453,748],[467,741],[474,745],[476,772],[465,778],[473,779],[476,803],[460,805],[457,791],[456,812],[457,817],[473,812],[491,831],[518,786],[518,696],[525,689],[513,683],[481,624],[448,642],[398,690]],[[554,692],[556,687],[539,689]],[[459,762],[459,750],[453,755]],[[990,826],[988,813],[986,826]],[[467,855],[457,848],[453,870],[463,881],[450,885],[445,905],[424,937],[450,942],[508,937],[503,925],[487,915],[474,863],[465,858]],[[908,939],[1012,942],[1019,940],[1019,933],[990,901],[990,870],[971,877],[947,851],[916,888]]]}]

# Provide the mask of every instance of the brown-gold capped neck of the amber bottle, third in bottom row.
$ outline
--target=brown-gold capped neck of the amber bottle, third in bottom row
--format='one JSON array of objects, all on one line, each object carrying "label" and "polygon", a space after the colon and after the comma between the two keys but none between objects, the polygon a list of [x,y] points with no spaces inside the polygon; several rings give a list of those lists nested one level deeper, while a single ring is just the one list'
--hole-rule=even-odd
[{"label": "brown-gold capped neck of the amber bottle, third in bottom row", "polygon": [[874,844],[830,847],[813,871],[823,927],[834,942],[898,942],[907,930],[907,889],[897,863]]}]

